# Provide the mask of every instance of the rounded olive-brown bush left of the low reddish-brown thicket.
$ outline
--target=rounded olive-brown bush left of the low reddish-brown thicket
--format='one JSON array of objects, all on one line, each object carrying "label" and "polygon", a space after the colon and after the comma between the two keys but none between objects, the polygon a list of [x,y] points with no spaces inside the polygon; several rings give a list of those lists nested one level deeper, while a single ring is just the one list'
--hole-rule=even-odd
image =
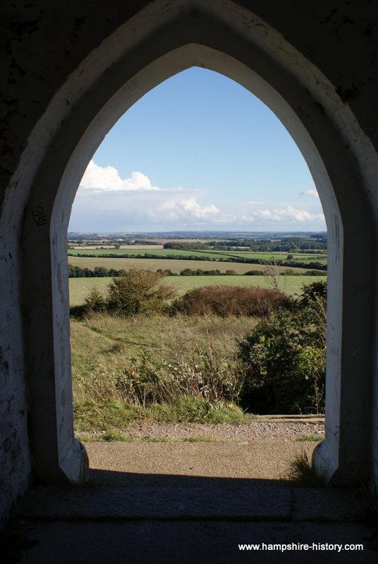
[{"label": "rounded olive-brown bush left of the low reddish-brown thicket", "polygon": [[161,313],[176,290],[161,283],[161,274],[133,268],[109,284],[107,309],[126,316]]}]

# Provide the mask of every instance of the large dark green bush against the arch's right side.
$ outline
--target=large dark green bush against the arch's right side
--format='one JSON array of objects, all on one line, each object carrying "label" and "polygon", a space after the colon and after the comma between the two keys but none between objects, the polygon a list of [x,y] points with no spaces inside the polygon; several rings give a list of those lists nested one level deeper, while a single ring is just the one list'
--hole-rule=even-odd
[{"label": "large dark green bush against the arch's right side", "polygon": [[303,288],[298,309],[260,321],[239,345],[243,407],[260,413],[323,412],[326,300],[322,283]]}]

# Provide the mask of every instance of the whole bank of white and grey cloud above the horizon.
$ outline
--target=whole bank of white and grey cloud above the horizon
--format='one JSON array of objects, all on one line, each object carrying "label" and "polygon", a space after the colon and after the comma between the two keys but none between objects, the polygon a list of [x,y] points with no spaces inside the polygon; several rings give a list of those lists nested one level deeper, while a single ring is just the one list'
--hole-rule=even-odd
[{"label": "whole bank of white and grey cloud above the horizon", "polygon": [[253,231],[316,231],[325,229],[315,190],[307,202],[267,203],[203,201],[207,195],[181,186],[153,186],[142,172],[121,178],[113,166],[94,161],[85,171],[76,195],[69,231],[169,231],[248,229]]}]

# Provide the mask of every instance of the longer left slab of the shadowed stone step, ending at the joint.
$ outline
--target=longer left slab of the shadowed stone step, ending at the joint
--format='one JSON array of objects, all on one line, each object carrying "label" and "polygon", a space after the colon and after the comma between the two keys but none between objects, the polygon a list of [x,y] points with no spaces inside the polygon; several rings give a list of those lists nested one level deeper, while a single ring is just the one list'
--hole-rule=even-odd
[{"label": "longer left slab of the shadowed stone step, ending at the joint", "polygon": [[57,519],[288,520],[291,490],[254,487],[44,488],[30,491],[18,517]]}]

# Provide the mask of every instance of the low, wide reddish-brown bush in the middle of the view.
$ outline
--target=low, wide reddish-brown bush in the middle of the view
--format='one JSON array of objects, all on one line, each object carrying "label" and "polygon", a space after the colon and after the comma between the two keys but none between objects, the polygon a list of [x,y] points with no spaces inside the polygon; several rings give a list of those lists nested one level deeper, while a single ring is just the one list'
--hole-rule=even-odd
[{"label": "low, wide reddish-brown bush in the middle of the view", "polygon": [[291,299],[278,290],[205,286],[189,290],[173,304],[185,315],[214,314],[220,317],[266,317],[277,307],[290,307]]}]

